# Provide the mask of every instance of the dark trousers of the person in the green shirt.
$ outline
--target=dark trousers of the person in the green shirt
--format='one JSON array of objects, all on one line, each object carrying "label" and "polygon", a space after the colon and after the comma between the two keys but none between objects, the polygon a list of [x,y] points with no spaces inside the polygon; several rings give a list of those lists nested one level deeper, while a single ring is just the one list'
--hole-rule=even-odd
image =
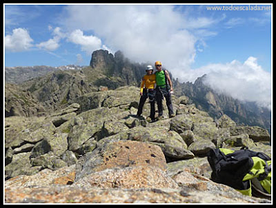
[{"label": "dark trousers of the person in the green shirt", "polygon": [[162,107],[163,97],[166,98],[168,114],[172,115],[173,114],[172,96],[170,95],[170,92],[168,91],[167,87],[164,87],[164,88],[156,87],[156,100],[157,100],[157,107],[158,107],[158,116],[163,116],[163,107]]}]

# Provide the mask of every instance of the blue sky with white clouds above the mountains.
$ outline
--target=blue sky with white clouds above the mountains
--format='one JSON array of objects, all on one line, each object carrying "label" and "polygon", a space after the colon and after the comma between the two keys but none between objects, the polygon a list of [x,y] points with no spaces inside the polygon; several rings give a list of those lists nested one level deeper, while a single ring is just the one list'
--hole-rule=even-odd
[{"label": "blue sky with white clouds above the mountains", "polygon": [[[271,10],[271,4],[6,4],[5,66],[89,65],[94,50],[121,50],[133,61],[162,61],[181,81],[210,74],[215,87],[233,76],[222,92],[257,85],[255,94],[266,92],[262,100],[270,103]],[[241,93],[234,96],[252,101]]]}]

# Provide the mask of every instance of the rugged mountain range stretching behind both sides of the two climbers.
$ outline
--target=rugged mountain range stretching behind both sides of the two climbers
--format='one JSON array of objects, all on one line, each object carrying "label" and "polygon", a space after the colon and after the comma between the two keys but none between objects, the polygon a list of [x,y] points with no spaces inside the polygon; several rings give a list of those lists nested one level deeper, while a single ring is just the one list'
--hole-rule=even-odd
[{"label": "rugged mountain range stretching behind both sides of the two climbers", "polygon": [[[6,67],[6,116],[55,112],[78,96],[97,92],[101,87],[114,90],[124,85],[139,86],[148,64],[132,63],[120,51],[113,55],[107,50],[97,50],[92,53],[90,66]],[[179,83],[172,77],[175,95],[188,96],[190,103],[214,119],[226,114],[238,124],[257,125],[270,132],[270,110],[217,94],[204,85],[205,77],[199,77],[195,83]]]}]

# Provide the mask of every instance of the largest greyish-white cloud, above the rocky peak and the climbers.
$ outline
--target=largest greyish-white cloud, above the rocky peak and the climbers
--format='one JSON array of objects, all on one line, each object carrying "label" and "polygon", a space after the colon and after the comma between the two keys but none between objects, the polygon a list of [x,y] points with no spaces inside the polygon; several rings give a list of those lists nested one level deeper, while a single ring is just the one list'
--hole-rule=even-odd
[{"label": "largest greyish-white cloud, above the rocky peak and the climbers", "polygon": [[[68,6],[66,10],[64,27],[90,30],[110,50],[121,50],[133,61],[160,60],[170,69],[189,67],[194,61],[197,39],[184,29],[186,21],[173,6]],[[207,18],[195,21],[204,27],[211,23]]]}]

